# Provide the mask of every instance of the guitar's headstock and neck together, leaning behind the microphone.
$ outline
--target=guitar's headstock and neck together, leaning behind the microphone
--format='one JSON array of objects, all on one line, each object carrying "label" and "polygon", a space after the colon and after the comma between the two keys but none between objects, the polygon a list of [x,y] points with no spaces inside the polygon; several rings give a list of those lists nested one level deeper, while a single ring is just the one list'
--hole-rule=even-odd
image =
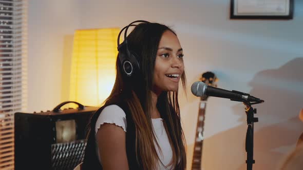
[{"label": "guitar's headstock and neck together, leaning behind the microphone", "polygon": [[[208,86],[217,87],[216,81],[218,80],[214,73],[205,72],[202,74],[200,79]],[[205,121],[205,109],[206,109],[207,96],[200,98],[199,112],[197,118],[196,137],[194,144],[194,154],[192,161],[192,170],[201,170],[202,167],[202,149],[203,149],[203,132],[204,132],[204,121]]]}]

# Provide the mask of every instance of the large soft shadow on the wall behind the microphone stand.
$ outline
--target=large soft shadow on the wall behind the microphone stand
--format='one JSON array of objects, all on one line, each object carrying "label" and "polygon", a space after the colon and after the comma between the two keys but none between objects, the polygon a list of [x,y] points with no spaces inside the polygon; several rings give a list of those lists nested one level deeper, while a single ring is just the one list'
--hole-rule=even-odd
[{"label": "large soft shadow on the wall behind the microphone stand", "polygon": [[[253,169],[277,169],[282,159],[291,152],[303,133],[303,122],[298,115],[303,108],[303,58],[296,58],[278,69],[264,70],[249,83],[251,95],[265,100],[253,105],[257,108],[254,132]],[[205,139],[204,169],[246,169],[246,115],[243,104],[236,104],[234,113],[241,115],[242,124]],[[243,135],[241,135],[243,134]],[[212,146],[212,147],[209,147]],[[226,158],[216,158],[225,155]],[[213,164],[218,160],[218,164]],[[241,163],[243,162],[243,163]]]}]

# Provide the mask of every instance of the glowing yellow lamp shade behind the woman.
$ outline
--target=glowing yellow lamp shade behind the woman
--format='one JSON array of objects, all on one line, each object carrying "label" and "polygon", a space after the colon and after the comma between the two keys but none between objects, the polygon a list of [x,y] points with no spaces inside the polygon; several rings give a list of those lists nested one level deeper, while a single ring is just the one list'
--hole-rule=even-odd
[{"label": "glowing yellow lamp shade behind the woman", "polygon": [[76,30],[73,40],[69,100],[98,106],[116,77],[119,28]]}]

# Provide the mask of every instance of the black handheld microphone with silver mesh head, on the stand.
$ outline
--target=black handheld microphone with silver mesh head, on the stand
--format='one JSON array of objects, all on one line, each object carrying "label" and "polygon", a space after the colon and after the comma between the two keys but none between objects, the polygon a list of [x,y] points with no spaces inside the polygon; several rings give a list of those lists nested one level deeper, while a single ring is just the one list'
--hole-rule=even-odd
[{"label": "black handheld microphone with silver mesh head, on the stand", "polygon": [[196,81],[192,85],[192,93],[195,96],[203,97],[203,96],[213,96],[213,97],[221,97],[228,98],[234,101],[248,101],[248,102],[258,102],[262,103],[264,100],[251,96],[247,93],[242,93],[238,91],[228,91],[224,89],[215,88],[212,86],[207,86],[202,81]]}]

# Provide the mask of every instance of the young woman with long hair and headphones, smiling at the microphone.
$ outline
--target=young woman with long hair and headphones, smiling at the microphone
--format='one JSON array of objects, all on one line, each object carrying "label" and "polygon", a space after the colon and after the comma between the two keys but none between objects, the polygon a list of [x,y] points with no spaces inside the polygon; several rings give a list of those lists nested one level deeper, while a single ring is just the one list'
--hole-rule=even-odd
[{"label": "young woman with long hair and headphones, smiling at the microphone", "polygon": [[130,27],[121,45],[118,36],[115,85],[91,118],[82,169],[185,169],[179,39],[167,26],[142,20],[126,26],[125,37]]}]

